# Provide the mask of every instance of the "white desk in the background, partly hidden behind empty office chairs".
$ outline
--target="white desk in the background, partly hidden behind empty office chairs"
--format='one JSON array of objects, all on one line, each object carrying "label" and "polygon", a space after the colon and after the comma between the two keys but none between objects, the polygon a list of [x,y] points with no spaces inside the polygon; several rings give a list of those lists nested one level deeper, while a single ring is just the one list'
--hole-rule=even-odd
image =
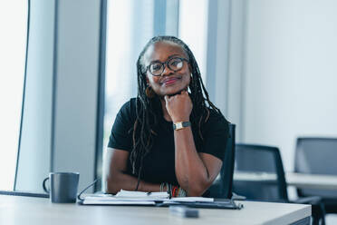
[{"label": "white desk in the background, partly hidden behind empty office chairs", "polygon": [[[273,183],[276,181],[276,174],[266,172],[238,172],[235,171],[235,181],[264,181]],[[289,186],[297,188],[312,188],[322,190],[337,191],[337,176],[313,175],[295,172],[286,172],[285,181]]]}]

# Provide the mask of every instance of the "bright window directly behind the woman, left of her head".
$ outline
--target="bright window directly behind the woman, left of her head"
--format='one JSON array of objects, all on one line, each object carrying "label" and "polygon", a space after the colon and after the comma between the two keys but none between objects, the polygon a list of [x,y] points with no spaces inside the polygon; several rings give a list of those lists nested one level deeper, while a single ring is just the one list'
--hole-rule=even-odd
[{"label": "bright window directly behind the woman, left of her head", "polygon": [[107,22],[103,156],[117,112],[137,96],[136,62],[142,48],[154,35],[178,34],[178,1],[111,0]]}]

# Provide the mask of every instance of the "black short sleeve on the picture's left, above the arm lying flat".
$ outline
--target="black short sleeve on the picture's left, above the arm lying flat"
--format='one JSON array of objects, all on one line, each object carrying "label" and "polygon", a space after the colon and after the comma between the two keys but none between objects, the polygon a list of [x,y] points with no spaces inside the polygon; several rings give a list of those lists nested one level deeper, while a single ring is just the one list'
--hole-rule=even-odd
[{"label": "black short sleeve on the picture's left, above the arm lying flat", "polygon": [[136,120],[135,99],[120,108],[112,125],[108,147],[125,151],[132,150],[132,128]]}]

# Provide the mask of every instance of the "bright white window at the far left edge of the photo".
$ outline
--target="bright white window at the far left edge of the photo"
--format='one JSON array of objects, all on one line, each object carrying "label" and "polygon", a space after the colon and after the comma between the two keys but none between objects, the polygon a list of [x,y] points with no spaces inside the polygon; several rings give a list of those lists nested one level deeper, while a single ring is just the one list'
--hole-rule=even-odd
[{"label": "bright white window at the far left edge of the photo", "polygon": [[24,93],[26,0],[0,2],[0,190],[13,190]]}]

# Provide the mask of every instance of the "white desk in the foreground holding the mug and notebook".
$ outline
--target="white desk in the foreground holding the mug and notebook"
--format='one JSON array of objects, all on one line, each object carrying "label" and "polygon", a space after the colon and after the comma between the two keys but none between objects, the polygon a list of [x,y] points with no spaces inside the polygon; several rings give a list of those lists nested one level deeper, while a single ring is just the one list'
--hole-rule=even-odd
[{"label": "white desk in the foreground holding the mug and notebook", "polygon": [[[81,206],[48,199],[0,195],[0,224],[309,224],[310,205],[242,201],[242,210],[200,209],[199,218],[171,215],[168,208]],[[297,223],[296,223],[297,224]]]}]

